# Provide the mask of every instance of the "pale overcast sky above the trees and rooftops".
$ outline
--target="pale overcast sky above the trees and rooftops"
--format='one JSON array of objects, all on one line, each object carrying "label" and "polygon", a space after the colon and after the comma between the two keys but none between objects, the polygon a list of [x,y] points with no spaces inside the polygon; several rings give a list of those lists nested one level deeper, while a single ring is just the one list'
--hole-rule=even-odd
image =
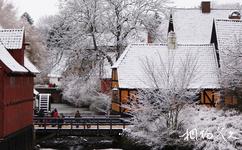
[{"label": "pale overcast sky above the trees and rooftops", "polygon": [[[42,16],[58,12],[58,0],[9,0],[18,9],[18,14],[28,12],[35,22]],[[173,0],[177,7],[197,7],[201,0]],[[242,0],[213,0],[219,4],[241,3]]]}]

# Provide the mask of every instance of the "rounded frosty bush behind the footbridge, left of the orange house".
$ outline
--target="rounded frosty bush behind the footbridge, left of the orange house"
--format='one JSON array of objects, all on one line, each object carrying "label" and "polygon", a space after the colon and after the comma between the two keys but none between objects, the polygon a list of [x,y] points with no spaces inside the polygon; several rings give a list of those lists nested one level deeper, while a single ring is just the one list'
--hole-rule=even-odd
[{"label": "rounded frosty bush behind the footbridge, left of the orange house", "polygon": [[69,75],[63,80],[63,99],[77,107],[108,110],[110,99],[99,93],[100,79],[90,75],[88,79]]}]

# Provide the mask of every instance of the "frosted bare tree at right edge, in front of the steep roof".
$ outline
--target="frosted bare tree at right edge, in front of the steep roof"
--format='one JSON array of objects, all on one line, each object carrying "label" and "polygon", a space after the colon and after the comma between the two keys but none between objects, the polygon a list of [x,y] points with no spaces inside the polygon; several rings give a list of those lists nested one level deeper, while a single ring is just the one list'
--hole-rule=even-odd
[{"label": "frosted bare tree at right edge, in front of the steep roof", "polygon": [[[242,91],[242,38],[234,36],[232,44],[220,49],[220,82],[225,95],[235,96],[241,104]],[[222,92],[222,93],[223,93]]]}]

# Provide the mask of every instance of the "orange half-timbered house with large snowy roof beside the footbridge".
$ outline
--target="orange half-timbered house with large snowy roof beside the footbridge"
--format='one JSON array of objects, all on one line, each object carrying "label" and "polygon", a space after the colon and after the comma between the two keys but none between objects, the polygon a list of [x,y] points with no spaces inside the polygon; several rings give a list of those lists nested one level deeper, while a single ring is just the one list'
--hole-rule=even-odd
[{"label": "orange half-timbered house with large snowy roof beside the footbridge", "polygon": [[[171,54],[173,59],[170,57]],[[126,109],[126,105],[135,97],[137,89],[154,88],[149,75],[144,70],[144,63],[147,60],[151,61],[150,64],[153,64],[155,73],[159,69],[166,69],[171,61],[173,61],[174,70],[181,69],[182,62],[188,61],[185,60],[188,55],[196,59],[197,69],[194,79],[190,81],[187,88],[201,89],[201,100],[204,97],[209,97],[209,95],[206,95],[207,93],[220,88],[217,76],[218,62],[213,45],[177,44],[170,49],[169,43],[168,45],[131,44],[112,66],[112,110],[119,113],[129,111]],[[178,80],[182,79],[178,72],[175,74]],[[158,84],[159,88],[166,88],[164,83],[158,81]],[[216,97],[216,95],[213,95],[213,97]]]}]

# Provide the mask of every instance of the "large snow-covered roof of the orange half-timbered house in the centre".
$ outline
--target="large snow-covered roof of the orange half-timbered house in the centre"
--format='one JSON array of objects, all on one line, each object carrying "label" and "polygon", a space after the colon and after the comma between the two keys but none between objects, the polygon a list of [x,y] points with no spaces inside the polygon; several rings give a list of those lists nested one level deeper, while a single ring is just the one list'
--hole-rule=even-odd
[{"label": "large snow-covered roof of the orange half-timbered house in the centre", "polygon": [[[171,54],[173,59],[170,57]],[[160,73],[167,69],[168,62],[174,62],[173,67],[177,80],[182,80],[178,72],[184,69],[182,68],[182,62],[188,56],[194,57],[192,60],[196,63],[196,75],[188,88],[219,88],[215,49],[210,44],[178,44],[174,50],[169,50],[166,44],[131,44],[112,68],[117,68],[119,88],[150,88],[154,86],[150,84],[151,81],[148,74],[145,73],[144,66],[146,60],[149,60],[149,63],[153,65],[155,72],[160,70],[156,72],[159,77],[161,77]],[[171,60],[174,61],[171,62]],[[166,88],[164,87],[164,83],[161,83],[161,80],[159,80],[159,86]]]}]

